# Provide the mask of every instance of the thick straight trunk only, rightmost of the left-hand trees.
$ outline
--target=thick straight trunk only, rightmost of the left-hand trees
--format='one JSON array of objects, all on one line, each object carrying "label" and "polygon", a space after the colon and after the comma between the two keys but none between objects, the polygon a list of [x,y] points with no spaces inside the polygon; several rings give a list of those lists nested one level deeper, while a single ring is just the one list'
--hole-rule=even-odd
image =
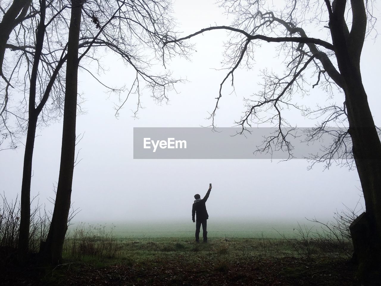
[{"label": "thick straight trunk only, rightmost of the left-hand trees", "polygon": [[64,122],[62,130],[61,164],[57,186],[53,217],[46,239],[46,258],[58,264],[62,256],[62,246],[67,230],[67,219],[70,209],[70,196],[74,172],[75,157],[75,123],[77,116],[77,82],[78,82],[78,43],[82,13],[82,1],[72,0],[72,10],[67,46],[66,90],[64,105]]}]

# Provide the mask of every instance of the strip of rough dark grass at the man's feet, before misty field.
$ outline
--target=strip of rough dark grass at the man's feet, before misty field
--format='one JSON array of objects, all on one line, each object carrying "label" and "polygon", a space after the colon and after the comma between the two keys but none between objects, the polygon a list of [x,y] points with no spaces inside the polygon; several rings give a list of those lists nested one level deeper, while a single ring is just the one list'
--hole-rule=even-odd
[{"label": "strip of rough dark grass at the man's feet, before misty field", "polygon": [[295,256],[293,247],[283,239],[271,238],[210,238],[208,243],[195,243],[187,238],[114,238],[112,247],[104,251],[95,251],[101,239],[94,240],[94,246],[72,250],[73,241],[68,239],[64,247],[64,259],[76,261],[128,261],[132,264],[152,264],[155,261],[182,259],[189,262],[201,260],[248,260],[252,257]]}]

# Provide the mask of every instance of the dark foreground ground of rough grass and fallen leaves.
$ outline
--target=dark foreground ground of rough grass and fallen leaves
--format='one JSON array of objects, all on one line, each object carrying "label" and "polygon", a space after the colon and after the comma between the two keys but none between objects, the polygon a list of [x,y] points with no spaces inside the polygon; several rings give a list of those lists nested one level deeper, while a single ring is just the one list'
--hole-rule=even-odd
[{"label": "dark foreground ground of rough grass and fallen leaves", "polygon": [[[101,248],[100,248],[101,247]],[[68,241],[62,265],[8,269],[2,285],[357,285],[349,261],[279,239]]]}]

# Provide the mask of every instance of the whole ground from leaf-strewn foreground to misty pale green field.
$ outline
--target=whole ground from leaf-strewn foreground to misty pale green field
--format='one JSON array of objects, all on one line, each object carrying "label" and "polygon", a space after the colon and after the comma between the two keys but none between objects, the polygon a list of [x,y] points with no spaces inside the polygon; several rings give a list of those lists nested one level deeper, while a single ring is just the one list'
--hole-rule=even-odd
[{"label": "whole ground from leaf-strewn foreground to misty pale green field", "polygon": [[274,224],[209,225],[208,243],[195,243],[192,223],[77,224],[61,265],[5,271],[2,285],[357,285],[350,241],[300,236],[291,224],[279,225],[284,238]]}]

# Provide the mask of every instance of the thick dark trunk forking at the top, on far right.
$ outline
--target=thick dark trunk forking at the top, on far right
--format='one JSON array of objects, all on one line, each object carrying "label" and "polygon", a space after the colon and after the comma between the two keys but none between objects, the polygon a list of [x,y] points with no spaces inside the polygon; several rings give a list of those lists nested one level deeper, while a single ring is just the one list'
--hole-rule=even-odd
[{"label": "thick dark trunk forking at the top, on far right", "polygon": [[343,78],[343,90],[352,138],[353,156],[365,200],[365,214],[351,227],[358,277],[364,285],[381,281],[381,143],[362,84],[360,55],[365,39],[367,14],[363,1],[351,1],[351,31],[345,22],[345,0],[332,4],[329,27]]}]

